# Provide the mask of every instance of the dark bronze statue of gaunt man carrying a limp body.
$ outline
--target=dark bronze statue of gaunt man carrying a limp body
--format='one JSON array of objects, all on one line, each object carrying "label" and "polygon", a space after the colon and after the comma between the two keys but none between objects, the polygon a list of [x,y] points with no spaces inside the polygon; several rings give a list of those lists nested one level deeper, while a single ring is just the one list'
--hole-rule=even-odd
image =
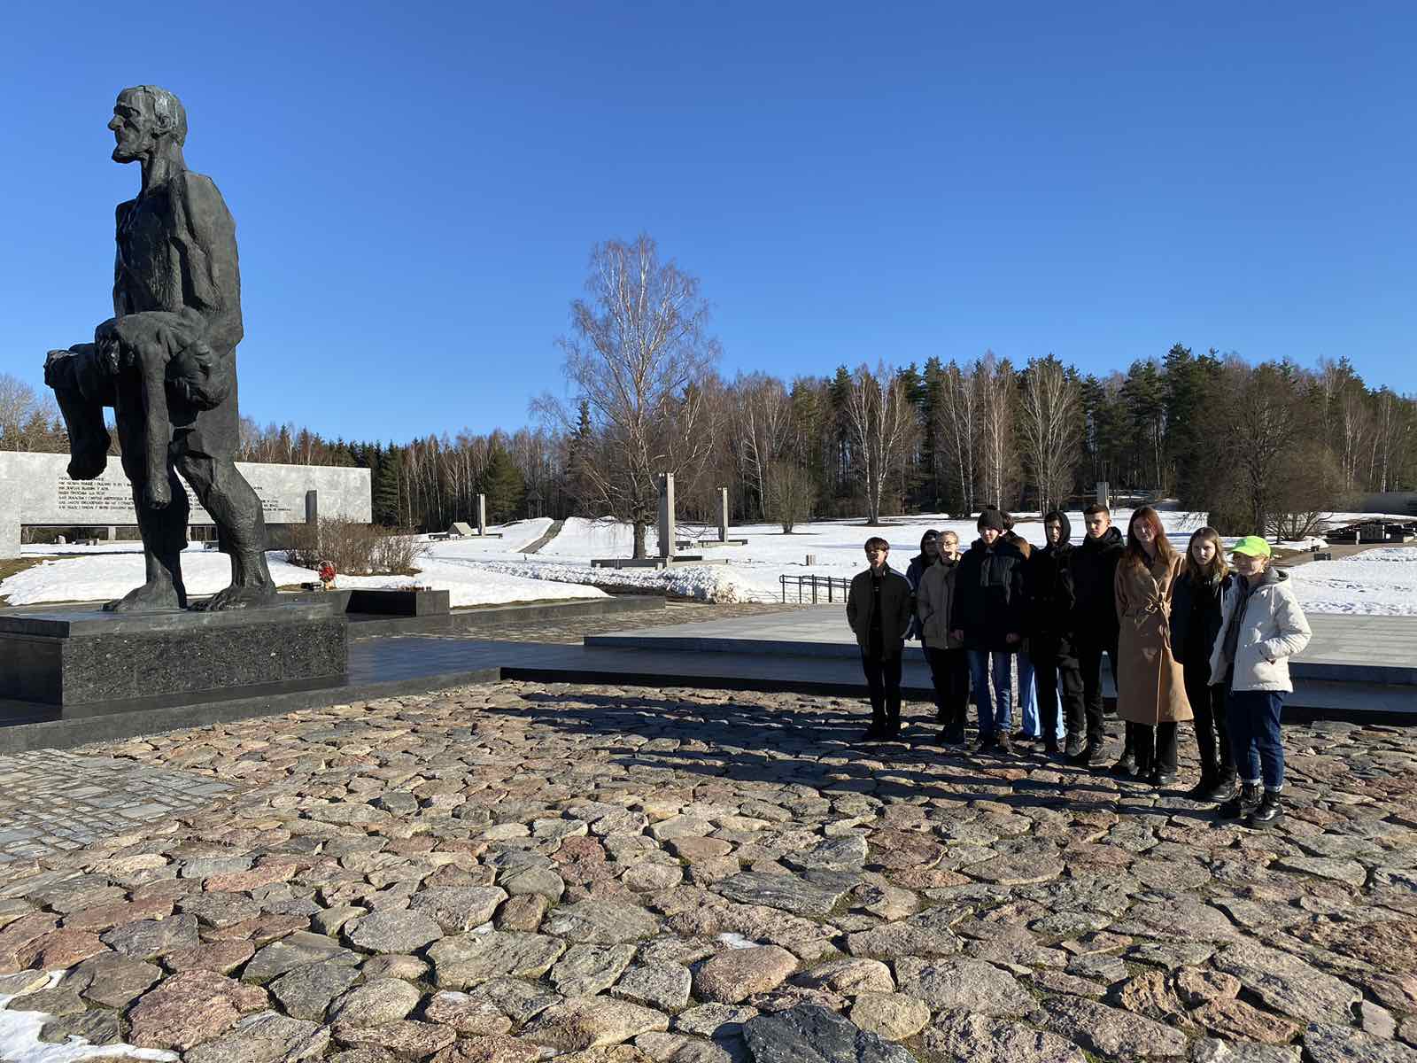
[{"label": "dark bronze statue of gaunt man carrying a limp body", "polygon": [[94,343],[51,350],[45,361],[69,429],[69,476],[103,472],[111,405],[133,485],[147,581],[105,608],[187,607],[181,550],[190,509],[179,472],[231,557],[231,585],[198,608],[261,605],[275,597],[265,519],[232,461],[242,334],[235,223],[217,186],[183,160],[187,112],[171,92],[123,89],[108,128],[118,142],[113,162],[136,162],[143,176],[137,198],[118,207],[113,316],[94,330]]}]

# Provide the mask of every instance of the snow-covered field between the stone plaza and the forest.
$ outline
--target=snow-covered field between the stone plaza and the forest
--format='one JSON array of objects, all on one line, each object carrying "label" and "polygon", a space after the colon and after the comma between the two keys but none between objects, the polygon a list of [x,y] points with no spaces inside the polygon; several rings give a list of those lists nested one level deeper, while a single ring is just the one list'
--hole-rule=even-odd
[{"label": "snow-covered field between the stone plaza and the forest", "polygon": [[[1125,527],[1131,513],[1118,510],[1114,516]],[[1162,510],[1161,516],[1166,534],[1178,549],[1185,549],[1190,533],[1204,523],[1202,513],[1172,509]],[[1335,514],[1333,523],[1349,523],[1362,516],[1340,513]],[[1083,537],[1083,514],[1070,513],[1068,519],[1073,522],[1073,541],[1077,543]],[[339,583],[344,587],[407,587],[417,583],[446,588],[455,607],[601,597],[604,591],[591,584],[643,587],[699,601],[779,601],[779,575],[850,577],[859,573],[864,567],[862,547],[873,534],[884,536],[891,543],[891,563],[901,570],[918,553],[920,539],[928,529],[954,530],[965,546],[976,536],[972,520],[952,520],[945,514],[894,517],[884,527],[874,529],[860,520],[823,520],[802,526],[794,534],[784,534],[777,524],[747,524],[730,530],[730,537],[747,539],[745,546],[706,544],[701,550],[684,551],[703,553],[714,561],[721,558],[726,564],[605,570],[591,568],[591,558],[629,557],[633,539],[628,524],[571,517],[538,553],[524,553],[550,526],[546,519],[519,520],[492,529],[500,532],[502,539],[428,541],[429,553],[414,578],[341,574]],[[1033,543],[1044,541],[1037,517],[1020,517],[1016,530]],[[696,532],[680,527],[682,537],[693,537]],[[653,529],[648,547],[650,553],[656,551]],[[11,605],[115,598],[142,581],[143,558],[136,543],[33,546],[24,550],[72,556],[45,561],[0,583],[0,595],[9,597]],[[811,566],[806,564],[808,554],[813,557]],[[286,564],[278,551],[272,551],[269,558],[278,584],[313,578],[309,570]],[[183,571],[188,591],[198,595],[224,587],[230,573],[224,554],[201,549],[184,554]],[[1298,566],[1291,573],[1301,601],[1311,611],[1417,615],[1417,549],[1372,550],[1338,561]],[[795,584],[789,595],[795,600]]]}]

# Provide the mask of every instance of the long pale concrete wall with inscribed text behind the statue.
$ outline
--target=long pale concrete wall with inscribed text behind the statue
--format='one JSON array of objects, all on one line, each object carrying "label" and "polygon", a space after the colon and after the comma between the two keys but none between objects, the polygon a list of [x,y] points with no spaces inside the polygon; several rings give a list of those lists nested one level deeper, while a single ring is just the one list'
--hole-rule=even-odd
[{"label": "long pale concrete wall with inscribed text behind the statue", "polygon": [[[0,485],[6,493],[3,512],[18,510],[21,524],[136,524],[133,489],[118,458],[108,459],[103,475],[94,480],[71,480],[67,454],[0,452]],[[302,524],[306,492],[319,493],[323,517],[373,523],[368,469],[327,465],[262,465],[237,462],[261,499],[268,524]],[[186,486],[186,483],[184,483]],[[191,505],[188,524],[210,524],[211,516],[187,488]]]}]

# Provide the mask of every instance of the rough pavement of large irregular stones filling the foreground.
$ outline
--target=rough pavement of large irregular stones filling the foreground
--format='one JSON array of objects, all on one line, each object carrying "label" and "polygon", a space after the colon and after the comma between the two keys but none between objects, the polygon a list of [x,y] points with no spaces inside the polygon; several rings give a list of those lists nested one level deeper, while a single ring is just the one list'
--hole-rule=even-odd
[{"label": "rough pavement of large irregular stones filling the foreground", "polygon": [[0,867],[0,1032],[193,1063],[1417,1060],[1417,731],[1285,729],[1288,815],[1254,832],[862,726],[499,683],[91,747],[231,789]]}]

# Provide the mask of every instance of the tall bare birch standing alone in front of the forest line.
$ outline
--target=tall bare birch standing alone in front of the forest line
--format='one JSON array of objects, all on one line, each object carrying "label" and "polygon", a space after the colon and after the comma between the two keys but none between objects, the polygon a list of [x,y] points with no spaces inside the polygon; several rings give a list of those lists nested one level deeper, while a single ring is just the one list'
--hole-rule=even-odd
[{"label": "tall bare birch standing alone in front of the forest line", "polygon": [[571,400],[544,395],[533,408],[571,431],[587,404],[598,437],[584,466],[589,502],[626,520],[635,557],[645,557],[659,475],[691,480],[713,452],[718,404],[706,401],[703,384],[718,342],[707,333],[699,279],[660,262],[645,234],[597,245],[585,288],[588,298],[571,303],[571,334],[560,340]]}]

